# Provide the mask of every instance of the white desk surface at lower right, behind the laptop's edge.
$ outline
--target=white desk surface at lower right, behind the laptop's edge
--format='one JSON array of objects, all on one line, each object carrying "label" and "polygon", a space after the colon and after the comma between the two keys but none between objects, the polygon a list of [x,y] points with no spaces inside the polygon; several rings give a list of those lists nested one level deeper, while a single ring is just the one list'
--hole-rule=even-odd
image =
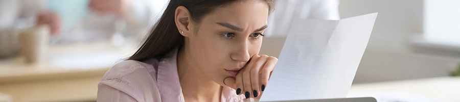
[{"label": "white desk surface at lower right, behind the laptop's edge", "polygon": [[[370,95],[372,93],[387,93],[390,95],[403,93],[400,95],[409,94],[436,101],[460,101],[460,77],[356,84],[352,85],[349,91],[349,95],[364,94],[365,96],[372,96]],[[411,96],[401,96],[401,98],[408,97]]]}]

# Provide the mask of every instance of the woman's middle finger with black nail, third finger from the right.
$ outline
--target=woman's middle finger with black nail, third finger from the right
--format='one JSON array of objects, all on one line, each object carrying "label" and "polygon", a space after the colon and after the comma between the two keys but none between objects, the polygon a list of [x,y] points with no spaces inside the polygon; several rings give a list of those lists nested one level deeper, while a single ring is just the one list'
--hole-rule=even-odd
[{"label": "woman's middle finger with black nail, third finger from the right", "polygon": [[254,66],[254,64],[258,61],[258,59],[259,59],[259,56],[257,55],[253,56],[251,60],[249,61],[249,64],[245,67],[242,73],[244,95],[246,96],[246,98],[251,97],[252,88],[251,88],[251,77],[250,77],[251,73],[250,72],[251,72],[252,66]]}]

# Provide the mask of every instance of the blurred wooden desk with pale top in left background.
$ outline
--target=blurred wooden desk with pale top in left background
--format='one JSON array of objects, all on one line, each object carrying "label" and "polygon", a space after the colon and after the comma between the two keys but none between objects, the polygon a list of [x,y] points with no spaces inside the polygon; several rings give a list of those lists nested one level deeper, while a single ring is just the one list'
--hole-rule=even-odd
[{"label": "blurred wooden desk with pale top in left background", "polygon": [[[0,60],[0,84],[3,83],[13,83],[13,82],[29,82],[29,81],[39,81],[39,80],[57,80],[57,79],[68,79],[68,78],[80,78],[80,77],[91,77],[95,75],[104,74],[108,68],[116,63],[117,60],[121,61],[122,58],[129,56],[134,52],[135,48],[132,46],[126,45],[122,47],[113,46],[108,42],[94,42],[94,43],[77,43],[69,45],[55,45],[50,46],[49,50],[49,59],[47,61],[42,61],[35,64],[25,64],[24,57],[16,57],[10,59],[1,59]],[[65,57],[72,57],[72,55],[79,54],[78,56],[95,56],[95,54],[90,55],[93,52],[104,52],[106,56],[114,59],[114,61],[109,62],[105,65],[97,66],[84,66],[81,68],[77,67],[68,67],[65,65],[56,65],[50,63],[50,57],[53,57],[51,60],[63,60],[68,59]],[[101,54],[101,53],[97,53]],[[112,55],[107,55],[112,54]],[[67,60],[68,63],[72,65],[71,61],[78,61],[79,58],[74,57],[77,60]],[[84,58],[84,57],[83,57]],[[90,59],[89,59],[90,60]],[[81,61],[81,59],[80,59]],[[74,63],[79,64],[77,62]]]}]

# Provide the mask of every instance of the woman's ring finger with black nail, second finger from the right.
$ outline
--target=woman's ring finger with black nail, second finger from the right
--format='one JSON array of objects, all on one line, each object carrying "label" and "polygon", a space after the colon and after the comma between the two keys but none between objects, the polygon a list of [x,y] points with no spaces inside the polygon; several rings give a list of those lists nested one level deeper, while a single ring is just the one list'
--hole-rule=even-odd
[{"label": "woman's ring finger with black nail, second finger from the right", "polygon": [[258,61],[251,67],[251,88],[252,88],[252,97],[259,96],[260,93],[260,81],[259,81],[259,70],[264,66],[265,62],[267,61],[267,55],[261,55],[258,58]]}]

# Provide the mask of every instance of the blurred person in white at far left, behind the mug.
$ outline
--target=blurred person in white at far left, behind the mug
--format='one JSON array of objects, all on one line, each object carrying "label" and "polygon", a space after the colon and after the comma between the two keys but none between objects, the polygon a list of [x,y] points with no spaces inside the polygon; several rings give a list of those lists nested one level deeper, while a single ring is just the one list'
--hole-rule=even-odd
[{"label": "blurred person in white at far left, behind the mug", "polygon": [[0,1],[0,58],[17,55],[20,49],[18,32],[35,25],[46,24],[50,33],[58,34],[61,19],[56,12],[48,11],[46,1]]}]

